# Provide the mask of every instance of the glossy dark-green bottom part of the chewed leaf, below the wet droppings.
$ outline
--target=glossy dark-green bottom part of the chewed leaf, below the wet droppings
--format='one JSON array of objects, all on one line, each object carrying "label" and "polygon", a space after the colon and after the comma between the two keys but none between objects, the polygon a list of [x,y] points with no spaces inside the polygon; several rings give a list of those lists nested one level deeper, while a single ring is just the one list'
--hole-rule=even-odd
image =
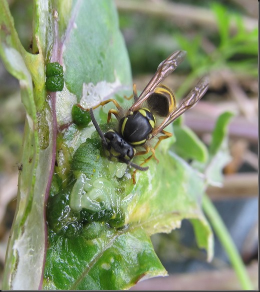
[{"label": "glossy dark-green bottom part of the chewed leaf, below the wet droppings", "polygon": [[[51,236],[45,289],[127,289],[140,277],[166,272],[142,229],[95,240]],[[58,259],[58,260],[57,260]]]}]

